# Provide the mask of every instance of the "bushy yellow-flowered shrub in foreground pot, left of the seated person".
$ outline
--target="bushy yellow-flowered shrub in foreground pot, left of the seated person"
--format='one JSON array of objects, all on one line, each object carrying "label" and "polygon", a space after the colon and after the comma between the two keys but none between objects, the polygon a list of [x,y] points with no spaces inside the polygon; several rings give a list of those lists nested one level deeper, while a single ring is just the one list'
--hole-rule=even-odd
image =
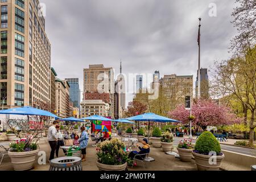
[{"label": "bushy yellow-flowered shrub in foreground pot, left of the seated person", "polygon": [[97,150],[97,167],[102,171],[125,171],[128,153],[125,143],[117,138],[99,144]]}]

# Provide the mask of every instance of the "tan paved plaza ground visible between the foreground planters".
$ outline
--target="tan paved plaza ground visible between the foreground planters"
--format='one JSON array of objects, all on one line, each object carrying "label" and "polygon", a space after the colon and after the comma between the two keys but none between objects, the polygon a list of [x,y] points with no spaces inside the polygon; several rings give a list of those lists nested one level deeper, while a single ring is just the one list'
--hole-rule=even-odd
[{"label": "tan paved plaza ground visible between the foreground planters", "polygon": [[[121,137],[117,136],[118,139],[121,140]],[[88,147],[86,148],[86,162],[82,163],[82,169],[83,171],[98,171],[98,168],[96,166],[96,147],[93,146],[95,141],[92,141],[89,139]],[[0,142],[0,145],[8,145],[9,142]],[[40,151],[46,152],[46,159],[49,158],[49,152],[50,147],[48,143],[42,143],[39,144]],[[65,156],[63,151],[60,150],[59,157]],[[155,160],[152,162],[144,162],[143,164],[140,162],[137,162],[137,166],[134,166],[133,168],[129,167],[129,171],[196,171],[196,163],[192,160],[192,162],[184,163],[181,162],[179,159],[175,158],[173,155],[167,155],[164,154],[162,151],[162,148],[154,148],[150,147],[150,157],[154,158]],[[37,157],[36,161],[39,157]],[[35,167],[32,168],[32,171],[48,171],[49,170],[49,163],[48,161],[44,165],[39,165],[38,162],[35,163]],[[3,159],[2,164],[0,165],[0,171],[12,171],[13,166],[11,165],[11,160],[7,156]]]}]

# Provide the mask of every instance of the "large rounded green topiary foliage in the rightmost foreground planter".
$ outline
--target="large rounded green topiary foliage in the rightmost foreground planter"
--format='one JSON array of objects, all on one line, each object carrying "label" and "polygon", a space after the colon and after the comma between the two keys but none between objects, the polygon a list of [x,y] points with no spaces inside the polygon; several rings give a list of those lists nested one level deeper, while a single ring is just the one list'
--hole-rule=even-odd
[{"label": "large rounded green topiary foliage in the rightmost foreground planter", "polygon": [[209,152],[215,151],[216,154],[221,153],[220,143],[209,131],[202,133],[196,141],[195,152],[208,155]]}]

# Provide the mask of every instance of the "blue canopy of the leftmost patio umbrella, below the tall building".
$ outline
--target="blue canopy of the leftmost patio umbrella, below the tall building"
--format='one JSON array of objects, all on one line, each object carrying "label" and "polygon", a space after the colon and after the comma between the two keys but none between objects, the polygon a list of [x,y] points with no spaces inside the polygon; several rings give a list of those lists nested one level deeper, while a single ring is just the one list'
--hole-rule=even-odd
[{"label": "blue canopy of the leftmost patio umbrella, below the tall building", "polygon": [[59,118],[57,115],[52,114],[48,111],[36,109],[34,107],[17,107],[13,109],[1,110],[0,114],[12,114],[12,115],[42,115],[46,117]]}]

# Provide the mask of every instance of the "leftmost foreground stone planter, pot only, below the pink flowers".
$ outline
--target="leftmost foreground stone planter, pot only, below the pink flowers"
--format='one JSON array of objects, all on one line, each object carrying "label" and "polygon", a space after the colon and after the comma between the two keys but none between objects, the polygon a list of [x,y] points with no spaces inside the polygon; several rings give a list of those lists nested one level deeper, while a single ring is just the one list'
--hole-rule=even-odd
[{"label": "leftmost foreground stone planter, pot only, below the pink flowers", "polygon": [[33,168],[39,150],[30,152],[8,152],[14,171],[26,171]]}]

